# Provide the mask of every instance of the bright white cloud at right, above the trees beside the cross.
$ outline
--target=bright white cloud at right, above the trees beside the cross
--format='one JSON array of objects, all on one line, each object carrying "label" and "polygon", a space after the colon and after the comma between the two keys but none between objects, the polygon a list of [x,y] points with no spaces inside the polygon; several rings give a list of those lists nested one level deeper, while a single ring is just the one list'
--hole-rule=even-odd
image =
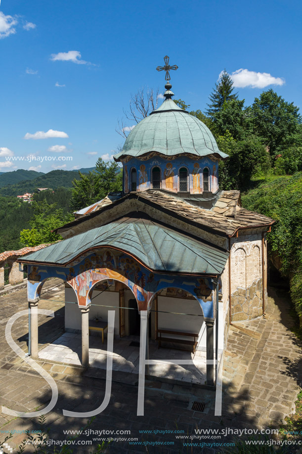
[{"label": "bright white cloud at right, above the trees beside the cross", "polygon": [[[223,71],[219,74],[219,78]],[[267,72],[249,71],[248,69],[237,69],[230,74],[235,88],[264,88],[268,85],[283,85],[285,80],[281,77],[273,77]]]}]

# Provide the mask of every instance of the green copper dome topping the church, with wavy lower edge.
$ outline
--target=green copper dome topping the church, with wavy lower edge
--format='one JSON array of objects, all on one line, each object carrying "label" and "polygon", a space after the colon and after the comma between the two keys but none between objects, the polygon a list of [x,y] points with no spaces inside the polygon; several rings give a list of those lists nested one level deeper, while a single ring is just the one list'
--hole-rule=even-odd
[{"label": "green copper dome topping the church, with wavy lower edge", "polygon": [[228,157],[218,149],[210,129],[175,104],[171,96],[173,92],[167,90],[162,105],[132,129],[123,150],[114,156],[115,160],[151,151],[166,156],[190,153],[201,157],[209,154]]}]

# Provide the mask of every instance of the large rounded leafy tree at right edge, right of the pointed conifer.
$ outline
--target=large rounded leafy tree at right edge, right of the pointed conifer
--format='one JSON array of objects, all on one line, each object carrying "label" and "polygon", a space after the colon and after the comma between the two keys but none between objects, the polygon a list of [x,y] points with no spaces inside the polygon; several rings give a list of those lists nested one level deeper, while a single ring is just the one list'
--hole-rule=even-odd
[{"label": "large rounded leafy tree at right edge, right of the pointed conifer", "polygon": [[[301,115],[299,107],[285,101],[272,89],[261,93],[252,105],[252,118],[255,134],[263,138],[270,155],[280,153],[289,145],[289,138],[298,140],[301,136]],[[300,141],[302,138],[300,137]]]}]

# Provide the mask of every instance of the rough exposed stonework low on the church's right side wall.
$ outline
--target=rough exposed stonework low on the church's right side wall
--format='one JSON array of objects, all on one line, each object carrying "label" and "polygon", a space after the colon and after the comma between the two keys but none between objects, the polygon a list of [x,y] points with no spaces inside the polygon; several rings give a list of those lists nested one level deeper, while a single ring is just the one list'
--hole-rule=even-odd
[{"label": "rough exposed stonework low on the church's right side wall", "polygon": [[262,315],[262,279],[254,281],[247,289],[237,287],[231,295],[231,320],[252,320]]}]

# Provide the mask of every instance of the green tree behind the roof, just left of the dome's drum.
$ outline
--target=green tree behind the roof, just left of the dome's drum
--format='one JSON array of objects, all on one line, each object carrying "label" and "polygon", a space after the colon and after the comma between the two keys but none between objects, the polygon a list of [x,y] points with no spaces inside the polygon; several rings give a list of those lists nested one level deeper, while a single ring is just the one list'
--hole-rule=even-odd
[{"label": "green tree behind the roof, just left of the dome's drum", "polygon": [[123,173],[116,162],[110,164],[98,158],[95,171],[80,174],[80,180],[73,181],[71,207],[79,210],[104,199],[110,192],[122,190]]}]

